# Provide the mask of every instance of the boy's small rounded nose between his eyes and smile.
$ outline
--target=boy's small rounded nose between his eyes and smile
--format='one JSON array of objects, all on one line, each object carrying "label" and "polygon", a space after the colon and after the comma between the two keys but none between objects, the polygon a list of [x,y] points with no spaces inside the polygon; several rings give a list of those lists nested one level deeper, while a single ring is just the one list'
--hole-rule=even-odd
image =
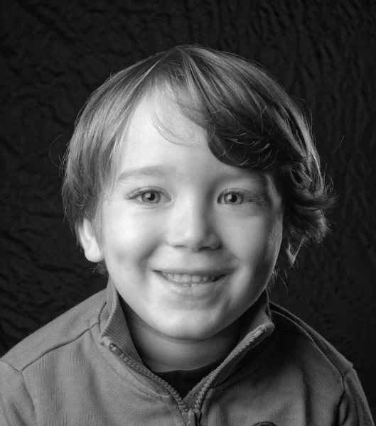
[{"label": "boy's small rounded nose between his eyes and smile", "polygon": [[176,206],[171,212],[167,232],[168,244],[190,251],[217,249],[220,246],[217,231],[215,218],[208,207],[187,202],[180,207]]}]

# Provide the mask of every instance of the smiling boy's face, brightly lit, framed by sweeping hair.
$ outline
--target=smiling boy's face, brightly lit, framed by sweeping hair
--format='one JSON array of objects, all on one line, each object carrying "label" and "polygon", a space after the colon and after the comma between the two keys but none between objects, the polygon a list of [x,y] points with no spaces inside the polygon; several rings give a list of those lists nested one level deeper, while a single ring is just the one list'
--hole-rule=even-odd
[{"label": "smiling boy's face, brightly lit, framed by sweeping hair", "polygon": [[154,125],[148,105],[124,136],[119,179],[102,206],[102,251],[94,240],[85,252],[104,257],[127,315],[164,337],[207,339],[266,288],[281,246],[281,196],[271,175],[220,163],[175,104],[157,103],[172,133]]}]

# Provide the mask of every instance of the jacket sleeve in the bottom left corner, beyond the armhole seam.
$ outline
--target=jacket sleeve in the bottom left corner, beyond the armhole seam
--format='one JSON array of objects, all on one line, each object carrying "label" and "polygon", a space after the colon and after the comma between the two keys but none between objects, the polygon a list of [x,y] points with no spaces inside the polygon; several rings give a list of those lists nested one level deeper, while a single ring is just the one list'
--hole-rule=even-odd
[{"label": "jacket sleeve in the bottom left corner, beyond the armhole seam", "polygon": [[0,361],[0,425],[36,426],[33,400],[23,375]]}]

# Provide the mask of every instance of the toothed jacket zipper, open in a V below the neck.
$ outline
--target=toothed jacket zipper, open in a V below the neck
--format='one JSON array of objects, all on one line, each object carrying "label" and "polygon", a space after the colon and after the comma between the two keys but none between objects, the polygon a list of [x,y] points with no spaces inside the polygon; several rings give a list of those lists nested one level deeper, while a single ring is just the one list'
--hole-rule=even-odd
[{"label": "toothed jacket zipper, open in a V below the neck", "polygon": [[[257,329],[249,336],[246,342],[243,342],[243,344],[235,351],[235,353],[232,355],[231,360],[234,359],[240,352],[242,352],[249,344],[254,343],[256,339],[259,337],[262,337],[263,334],[267,332],[267,327],[264,325],[257,327]],[[210,386],[212,385],[213,381],[215,380],[215,377],[217,376],[218,371],[220,371],[223,367],[223,363],[217,366],[215,370],[213,370],[208,375],[208,380],[205,383],[205,386],[201,389],[200,393],[198,394],[198,398],[195,400],[195,404],[193,408],[188,408],[186,403],[184,403],[183,398],[181,398],[181,395],[176,391],[173,386],[170,385],[170,383],[163,380],[163,378],[160,378],[159,376],[156,376],[156,374],[152,373],[149,369],[145,368],[144,366],[141,366],[141,364],[132,361],[128,356],[126,356],[117,346],[116,344],[110,343],[108,345],[108,349],[112,351],[114,355],[116,355],[119,359],[121,359],[125,364],[128,364],[131,366],[131,368],[134,368],[136,371],[139,371],[140,373],[143,373],[145,376],[153,379],[157,383],[161,384],[164,388],[166,388],[171,395],[173,395],[173,398],[175,398],[176,403],[178,404],[179,410],[181,410],[181,415],[183,417],[184,422],[186,423],[186,426],[200,426],[200,406],[203,403],[203,399],[205,398],[205,394],[208,392]],[[226,364],[228,361],[226,360]],[[225,362],[225,361],[224,361]]]}]

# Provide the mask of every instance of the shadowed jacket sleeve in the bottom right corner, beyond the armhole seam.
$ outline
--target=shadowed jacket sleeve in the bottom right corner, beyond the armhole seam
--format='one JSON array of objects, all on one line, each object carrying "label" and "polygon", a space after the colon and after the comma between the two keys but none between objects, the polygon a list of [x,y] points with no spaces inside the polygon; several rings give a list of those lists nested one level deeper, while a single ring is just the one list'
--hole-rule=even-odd
[{"label": "shadowed jacket sleeve in the bottom right corner, beyond the armhole seam", "polygon": [[354,368],[343,378],[343,395],[338,408],[338,426],[375,426],[367,398]]}]

